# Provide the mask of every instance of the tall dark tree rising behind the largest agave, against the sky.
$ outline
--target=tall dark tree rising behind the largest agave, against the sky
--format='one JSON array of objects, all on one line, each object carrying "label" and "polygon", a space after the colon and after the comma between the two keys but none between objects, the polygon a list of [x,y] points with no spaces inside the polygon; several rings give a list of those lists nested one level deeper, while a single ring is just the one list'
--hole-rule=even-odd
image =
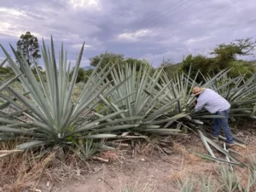
[{"label": "tall dark tree rising behind the largest agave, against the sky", "polygon": [[41,58],[39,53],[38,38],[33,36],[31,32],[26,32],[20,36],[20,40],[17,42],[18,54],[23,54],[28,62],[29,66],[33,61],[38,62]]}]

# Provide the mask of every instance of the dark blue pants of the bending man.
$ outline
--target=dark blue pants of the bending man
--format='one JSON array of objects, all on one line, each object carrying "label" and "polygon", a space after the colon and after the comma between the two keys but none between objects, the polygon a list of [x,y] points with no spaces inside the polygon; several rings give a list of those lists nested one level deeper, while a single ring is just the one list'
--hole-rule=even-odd
[{"label": "dark blue pants of the bending man", "polygon": [[234,143],[232,133],[229,126],[229,113],[230,109],[224,111],[218,111],[216,114],[222,115],[225,118],[215,118],[213,119],[213,137],[218,137],[219,131],[223,128],[225,136],[227,138],[227,143]]}]

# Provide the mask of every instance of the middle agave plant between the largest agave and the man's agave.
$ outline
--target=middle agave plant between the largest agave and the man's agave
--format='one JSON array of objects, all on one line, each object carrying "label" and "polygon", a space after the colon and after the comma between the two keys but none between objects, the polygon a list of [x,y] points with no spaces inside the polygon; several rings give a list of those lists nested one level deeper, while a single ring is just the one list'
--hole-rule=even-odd
[{"label": "middle agave plant between the largest agave and the man's agave", "polygon": [[[166,114],[172,111],[174,103],[177,99],[173,99],[165,106],[160,106],[161,102],[166,97],[166,86],[157,89],[156,84],[160,79],[162,70],[155,71],[152,77],[149,76],[150,67],[143,68],[136,71],[136,65],[125,65],[125,68],[118,67],[111,72],[113,84],[109,84],[109,90],[113,87],[118,87],[112,93],[106,93],[108,100],[103,99],[106,107],[99,113],[110,109],[113,113],[118,113],[124,108],[128,109],[125,113],[120,113],[119,117],[123,119],[119,123],[124,123],[125,119],[131,119],[129,124],[137,125],[132,127],[129,131],[133,132],[151,132],[158,134],[176,134],[180,130],[177,129],[161,129],[163,123],[174,119],[180,119],[186,116],[185,113],[178,113],[176,116],[167,117]],[[155,94],[153,94],[155,93]],[[99,115],[102,117],[102,115]],[[162,119],[161,119],[162,118]],[[109,119],[111,124],[113,119]],[[127,123],[127,122],[126,122]]]}]

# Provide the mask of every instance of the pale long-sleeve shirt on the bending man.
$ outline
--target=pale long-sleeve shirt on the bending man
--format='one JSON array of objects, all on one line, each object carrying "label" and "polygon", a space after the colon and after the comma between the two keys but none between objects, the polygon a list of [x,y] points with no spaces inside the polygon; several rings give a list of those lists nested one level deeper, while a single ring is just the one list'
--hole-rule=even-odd
[{"label": "pale long-sleeve shirt on the bending man", "polygon": [[217,113],[218,111],[229,109],[230,103],[214,90],[206,89],[197,98],[195,111],[199,111],[202,108],[206,108],[210,113]]}]

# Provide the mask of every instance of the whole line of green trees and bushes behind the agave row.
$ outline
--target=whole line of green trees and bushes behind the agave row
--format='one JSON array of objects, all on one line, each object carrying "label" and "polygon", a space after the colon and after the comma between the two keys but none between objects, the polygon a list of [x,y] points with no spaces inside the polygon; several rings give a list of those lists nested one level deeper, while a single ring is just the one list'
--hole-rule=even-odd
[{"label": "whole line of green trees and bushes behind the agave row", "polygon": [[[17,41],[17,52],[19,55],[23,55],[28,64],[33,68],[33,72],[36,73],[35,65],[38,65],[38,60],[41,58],[40,49],[38,44],[38,38],[33,36],[31,32],[26,32],[20,36]],[[249,77],[252,73],[256,72],[254,61],[244,61],[238,59],[239,56],[253,55],[253,50],[256,46],[256,40],[253,38],[237,39],[230,44],[218,44],[212,52],[210,52],[211,57],[207,55],[187,55],[183,58],[183,61],[175,63],[171,58],[163,60],[160,63],[160,67],[166,71],[170,76],[176,73],[190,73],[191,77],[194,78],[196,73],[200,71],[203,74],[208,74],[213,76],[224,68],[230,68],[230,77],[235,78],[241,74],[245,74]],[[102,57],[104,55],[104,59]],[[99,61],[102,60],[101,67],[105,67],[108,63],[116,63],[116,69],[119,67],[125,67],[125,63],[131,65],[137,65],[136,70],[138,71],[140,66],[152,68],[152,73],[154,73],[155,68],[151,66],[150,62],[147,60],[139,60],[136,58],[125,57],[124,54],[118,54],[113,52],[108,52],[106,54],[96,55],[90,58],[90,66],[96,67]],[[39,67],[39,65],[38,65]],[[42,67],[39,67],[42,70]],[[77,83],[86,82],[92,69],[85,70],[83,67],[79,68],[79,74]],[[0,69],[0,74],[13,74],[10,67],[2,67]],[[198,76],[197,80],[201,76]],[[109,77],[111,79],[111,77]]]}]

